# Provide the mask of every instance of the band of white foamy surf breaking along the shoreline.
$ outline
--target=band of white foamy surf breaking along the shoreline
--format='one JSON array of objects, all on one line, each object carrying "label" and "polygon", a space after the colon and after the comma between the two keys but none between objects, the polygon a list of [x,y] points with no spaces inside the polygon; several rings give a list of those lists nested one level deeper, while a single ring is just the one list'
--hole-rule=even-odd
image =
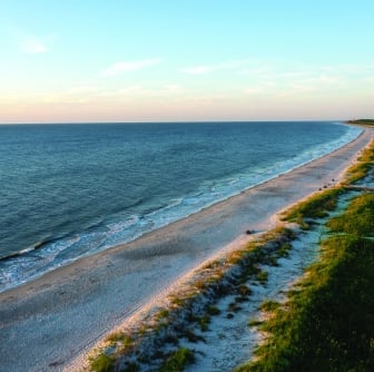
[{"label": "band of white foamy surf breaking along the shoreline", "polygon": [[166,226],[245,189],[291,172],[336,150],[354,140],[361,133],[362,129],[347,126],[344,136],[309,148],[287,160],[269,164],[265,167],[248,167],[236,175],[205,182],[195,194],[170,199],[166,206],[146,215],[131,215],[125,219],[108,223],[104,231],[76,234],[72,237],[51,242],[41,248],[27,252],[24,255],[3,261],[1,262],[0,292],[41,276],[46,272],[79,257],[131,242],[145,233]]}]

